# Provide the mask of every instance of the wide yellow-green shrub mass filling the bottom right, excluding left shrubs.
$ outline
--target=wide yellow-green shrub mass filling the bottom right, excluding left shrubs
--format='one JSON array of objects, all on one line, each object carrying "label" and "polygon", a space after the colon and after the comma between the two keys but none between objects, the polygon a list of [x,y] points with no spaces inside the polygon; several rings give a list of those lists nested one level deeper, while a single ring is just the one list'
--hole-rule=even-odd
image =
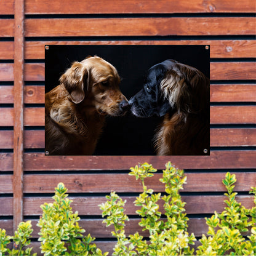
[{"label": "wide yellow-green shrub mass filling the bottom right, excluding left shrubs", "polygon": [[[129,220],[124,214],[124,204],[116,193],[106,196],[107,201],[100,205],[103,221],[107,226],[114,225],[114,237],[118,239],[113,255],[193,255],[193,245],[196,238],[194,234],[188,234],[185,214],[185,202],[182,202],[179,190],[183,189],[186,182],[183,170],[178,170],[170,162],[166,164],[166,170],[160,181],[165,185],[166,195],[155,194],[153,190],[145,186],[145,178],[152,177],[156,172],[150,164],[142,164],[130,169],[129,175],[134,175],[136,180],[140,179],[143,193],[134,201],[139,206],[137,214],[140,215],[142,231],[148,230],[149,240],[143,238],[138,232],[126,238],[124,231],[125,222]],[[256,230],[255,209],[246,209],[236,200],[237,193],[233,192],[235,175],[226,174],[223,184],[226,186],[228,197],[225,200],[227,207],[221,214],[215,212],[211,218],[206,218],[209,231],[199,239],[196,255],[256,255]],[[255,195],[256,189],[251,193]],[[164,213],[159,212],[159,200],[164,201]],[[256,203],[256,197],[254,196]],[[165,215],[163,221],[161,216]],[[251,219],[250,219],[251,218]],[[250,221],[249,221],[250,220]],[[251,235],[247,240],[242,236],[250,228]]]}]

